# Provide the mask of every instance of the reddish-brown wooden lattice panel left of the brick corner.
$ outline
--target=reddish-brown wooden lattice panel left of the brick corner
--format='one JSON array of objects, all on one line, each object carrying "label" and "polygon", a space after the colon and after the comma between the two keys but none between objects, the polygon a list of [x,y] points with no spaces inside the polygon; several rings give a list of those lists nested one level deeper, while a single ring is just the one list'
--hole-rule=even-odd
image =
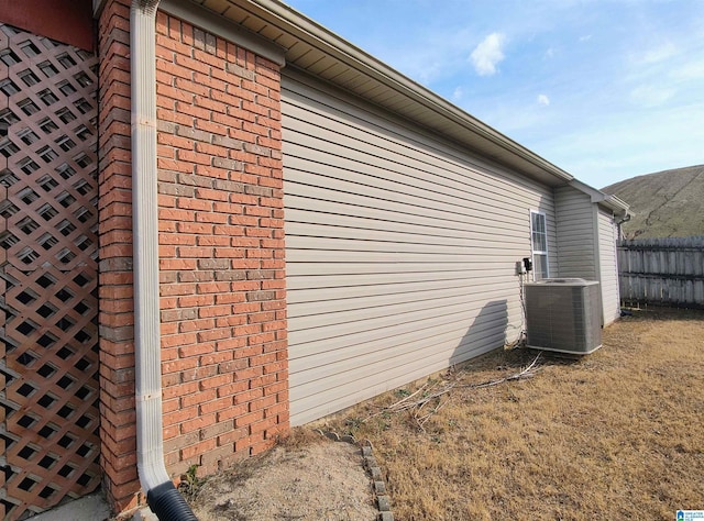
[{"label": "reddish-brown wooden lattice panel left of the brick corner", "polygon": [[100,483],[97,59],[0,24],[2,517]]}]

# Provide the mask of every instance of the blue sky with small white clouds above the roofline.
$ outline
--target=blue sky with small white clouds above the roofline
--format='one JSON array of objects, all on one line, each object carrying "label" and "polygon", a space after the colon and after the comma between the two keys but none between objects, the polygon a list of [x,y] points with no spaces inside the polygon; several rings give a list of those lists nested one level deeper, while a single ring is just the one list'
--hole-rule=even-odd
[{"label": "blue sky with small white clouds above the roofline", "polygon": [[704,0],[285,0],[602,188],[704,164]]}]

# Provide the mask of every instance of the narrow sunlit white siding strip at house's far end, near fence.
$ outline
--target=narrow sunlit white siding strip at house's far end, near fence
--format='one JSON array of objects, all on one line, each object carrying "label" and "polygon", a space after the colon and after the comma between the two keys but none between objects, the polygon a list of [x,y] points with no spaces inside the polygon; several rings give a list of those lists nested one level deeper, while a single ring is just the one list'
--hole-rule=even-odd
[{"label": "narrow sunlit white siding strip at house's far end, near fence", "polygon": [[620,317],[620,296],[618,292],[618,258],[616,254],[617,226],[613,215],[598,211],[598,257],[602,282],[602,308],[604,324]]}]

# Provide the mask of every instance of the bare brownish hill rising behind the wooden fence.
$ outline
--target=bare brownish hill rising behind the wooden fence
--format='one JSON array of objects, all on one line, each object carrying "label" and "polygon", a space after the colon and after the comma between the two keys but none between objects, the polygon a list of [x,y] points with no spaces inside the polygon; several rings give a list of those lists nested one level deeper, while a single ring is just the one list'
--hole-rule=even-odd
[{"label": "bare brownish hill rising behind the wooden fence", "polygon": [[675,168],[602,188],[630,204],[624,234],[635,237],[704,235],[704,165]]}]

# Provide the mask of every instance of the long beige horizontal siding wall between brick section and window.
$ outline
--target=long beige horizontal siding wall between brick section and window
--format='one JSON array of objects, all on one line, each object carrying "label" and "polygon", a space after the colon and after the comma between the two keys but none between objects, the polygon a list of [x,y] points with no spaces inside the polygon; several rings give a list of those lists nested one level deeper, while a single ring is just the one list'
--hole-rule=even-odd
[{"label": "long beige horizontal siding wall between brick section and window", "polygon": [[295,70],[282,100],[292,423],[515,340],[552,190]]}]

